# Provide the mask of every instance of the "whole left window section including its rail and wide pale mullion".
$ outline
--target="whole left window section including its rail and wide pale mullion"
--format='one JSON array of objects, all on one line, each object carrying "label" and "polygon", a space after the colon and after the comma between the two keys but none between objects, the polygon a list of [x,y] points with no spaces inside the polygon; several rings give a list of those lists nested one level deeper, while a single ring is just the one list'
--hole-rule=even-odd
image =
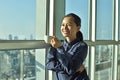
[{"label": "whole left window section including its rail and wide pale mullion", "polygon": [[0,0],[0,80],[45,80],[46,5]]}]

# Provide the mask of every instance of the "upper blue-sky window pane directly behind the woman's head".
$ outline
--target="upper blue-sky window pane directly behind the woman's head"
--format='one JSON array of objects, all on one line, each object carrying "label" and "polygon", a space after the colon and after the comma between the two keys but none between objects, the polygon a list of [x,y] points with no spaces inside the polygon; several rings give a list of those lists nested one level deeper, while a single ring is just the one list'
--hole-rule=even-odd
[{"label": "upper blue-sky window pane directly behind the woman's head", "polygon": [[66,0],[65,14],[75,13],[81,17],[81,32],[88,40],[88,0]]}]

